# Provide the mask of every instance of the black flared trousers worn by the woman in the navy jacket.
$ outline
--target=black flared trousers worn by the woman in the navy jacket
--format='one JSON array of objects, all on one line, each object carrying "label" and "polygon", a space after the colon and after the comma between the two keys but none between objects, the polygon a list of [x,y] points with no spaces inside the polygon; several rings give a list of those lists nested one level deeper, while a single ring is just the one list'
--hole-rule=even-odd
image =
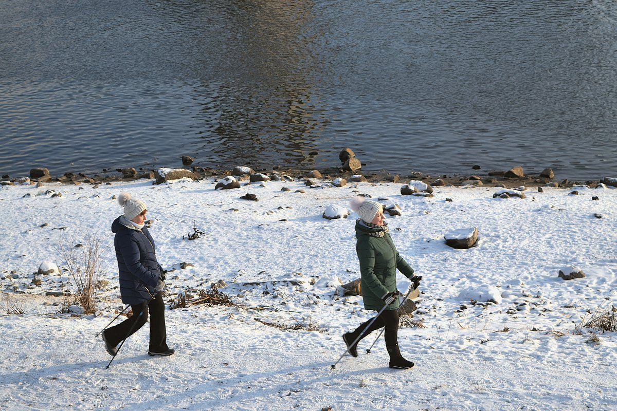
[{"label": "black flared trousers worn by the woman in the navy jacket", "polygon": [[[139,304],[131,304],[133,316],[114,327],[105,330],[107,343],[117,346],[130,335],[133,335],[139,328],[146,324],[148,311],[150,311],[150,344],[148,351],[163,352],[167,351],[167,331],[165,330],[165,303],[163,296],[159,293],[151,299]],[[139,313],[142,313],[139,315]],[[137,324],[135,324],[137,322]],[[135,327],[133,327],[135,325]],[[131,331],[131,328],[133,330]],[[129,334],[130,332],[130,334]]]}]

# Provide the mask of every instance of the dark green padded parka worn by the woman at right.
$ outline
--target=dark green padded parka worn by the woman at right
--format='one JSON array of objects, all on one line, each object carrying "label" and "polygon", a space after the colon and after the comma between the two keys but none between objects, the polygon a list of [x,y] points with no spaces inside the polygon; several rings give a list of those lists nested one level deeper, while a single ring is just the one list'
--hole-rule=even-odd
[{"label": "dark green padded parka worn by the woman at right", "polygon": [[[375,237],[371,233],[383,231],[383,227],[368,227],[357,219],[355,222],[355,251],[360,261],[360,287],[362,299],[367,310],[381,310],[385,303],[381,299],[386,293],[396,290],[396,270],[411,279],[413,268],[407,264],[396,250],[390,233]],[[399,299],[387,306],[387,310],[399,308]]]}]

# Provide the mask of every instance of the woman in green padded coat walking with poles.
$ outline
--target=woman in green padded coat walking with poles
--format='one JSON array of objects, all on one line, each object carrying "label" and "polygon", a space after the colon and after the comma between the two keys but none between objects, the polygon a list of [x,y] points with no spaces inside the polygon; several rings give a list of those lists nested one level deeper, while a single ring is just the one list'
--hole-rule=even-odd
[{"label": "woman in green padded coat walking with poles", "polygon": [[390,368],[411,368],[413,362],[404,359],[399,351],[400,303],[399,291],[396,289],[396,270],[399,269],[405,277],[412,280],[415,287],[418,287],[420,277],[413,275],[413,268],[396,250],[384,221],[381,204],[358,196],[352,200],[351,208],[360,215],[355,222],[355,250],[360,260],[360,286],[364,307],[378,312],[384,307],[385,309],[374,321],[368,320],[360,324],[354,332],[345,333],[343,340],[349,353],[357,357],[358,341],[371,332],[386,327],[384,338],[390,356]]}]

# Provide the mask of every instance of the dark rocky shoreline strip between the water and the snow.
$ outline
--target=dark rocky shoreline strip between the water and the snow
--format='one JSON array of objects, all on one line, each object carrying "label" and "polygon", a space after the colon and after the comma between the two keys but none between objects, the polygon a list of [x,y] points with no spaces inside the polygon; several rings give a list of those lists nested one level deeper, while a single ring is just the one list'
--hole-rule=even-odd
[{"label": "dark rocky shoreline strip between the water and the snow", "polygon": [[[250,166],[243,166],[246,168],[250,168]],[[62,184],[106,184],[110,182],[126,182],[126,181],[137,181],[140,179],[152,179],[155,180],[155,173],[158,169],[162,169],[165,167],[159,167],[155,169],[144,169],[144,168],[123,168],[123,169],[103,169],[99,173],[64,173],[61,176],[52,176],[51,174],[44,174],[43,176],[36,176],[33,174],[35,170],[47,170],[46,168],[35,168],[31,169],[30,176],[22,176],[22,177],[10,177],[8,175],[2,176],[0,178],[0,185],[14,185],[14,184],[25,184],[26,182],[30,182],[30,184],[35,184],[40,182],[44,184],[46,182],[59,182]],[[231,171],[233,168],[203,168],[198,166],[185,166],[184,168],[174,168],[174,169],[184,169],[187,171],[192,171],[199,179],[204,178],[212,178],[212,179],[220,179],[227,176],[231,176]],[[318,171],[321,176],[313,176],[312,173]],[[298,179],[323,179],[323,180],[334,180],[337,178],[344,178],[349,181],[351,176],[363,176],[365,177],[367,182],[371,183],[400,183],[407,184],[410,180],[422,181],[428,185],[454,185],[454,186],[464,186],[464,185],[478,185],[481,187],[505,187],[505,188],[516,188],[520,186],[524,187],[540,187],[540,186],[553,186],[553,187],[572,187],[573,185],[597,185],[602,182],[603,178],[608,177],[598,177],[596,180],[577,180],[577,181],[569,181],[568,179],[558,179],[558,177],[553,176],[549,178],[547,176],[540,176],[537,174],[531,175],[523,175],[522,177],[507,177],[505,176],[507,170],[473,170],[475,173],[470,174],[426,174],[419,171],[408,173],[408,174],[392,174],[387,171],[379,171],[379,172],[363,172],[362,169],[358,169],[356,171],[344,171],[342,168],[325,168],[325,169],[302,169],[302,168],[289,168],[283,166],[273,166],[268,169],[260,168],[254,169],[254,173],[265,174],[267,176],[273,176],[278,174],[279,176],[289,176],[294,180]],[[49,173],[49,171],[47,171]],[[443,184],[433,184],[437,180],[443,181]],[[471,184],[470,184],[471,182]],[[153,184],[156,184],[153,182]]]}]

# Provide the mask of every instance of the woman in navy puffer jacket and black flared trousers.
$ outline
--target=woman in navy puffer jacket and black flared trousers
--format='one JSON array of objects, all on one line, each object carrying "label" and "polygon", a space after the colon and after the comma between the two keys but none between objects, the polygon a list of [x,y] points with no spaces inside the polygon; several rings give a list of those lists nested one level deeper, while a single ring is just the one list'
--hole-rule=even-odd
[{"label": "woman in navy puffer jacket and black flared trousers", "polygon": [[[123,192],[118,203],[124,215],[112,223],[114,247],[118,260],[120,295],[123,304],[130,304],[133,316],[102,333],[105,348],[114,356],[125,338],[146,324],[150,313],[150,356],[170,356],[175,351],[167,346],[165,303],[162,290],[165,279],[157,262],[154,240],[145,226],[146,204],[130,193]],[[141,315],[139,315],[141,313]]]}]

